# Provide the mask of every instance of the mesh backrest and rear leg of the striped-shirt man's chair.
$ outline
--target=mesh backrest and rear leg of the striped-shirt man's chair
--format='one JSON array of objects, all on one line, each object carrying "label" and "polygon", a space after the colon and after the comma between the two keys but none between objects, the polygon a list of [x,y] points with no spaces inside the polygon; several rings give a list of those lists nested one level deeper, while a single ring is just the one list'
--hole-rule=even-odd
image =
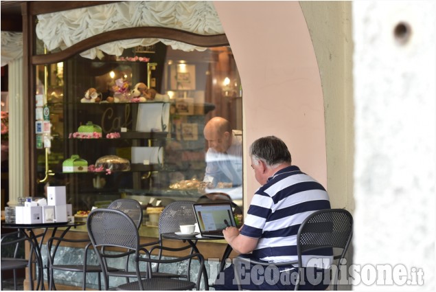
[{"label": "mesh backrest and rear leg of the striped-shirt man's chair", "polygon": [[[335,256],[339,264],[347,252],[353,236],[353,216],[347,210],[327,209],[314,212],[306,218],[297,234],[299,267],[302,267],[302,254],[317,249],[341,249],[341,255]],[[337,274],[334,277],[334,290],[337,289]]]}]

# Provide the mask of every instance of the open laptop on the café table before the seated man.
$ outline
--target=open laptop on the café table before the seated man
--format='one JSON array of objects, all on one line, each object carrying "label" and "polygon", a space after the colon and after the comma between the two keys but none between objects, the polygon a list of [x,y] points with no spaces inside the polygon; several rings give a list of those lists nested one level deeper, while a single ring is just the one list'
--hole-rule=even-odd
[{"label": "open laptop on the caf\u00e9 table before the seated man", "polygon": [[193,207],[202,237],[224,238],[222,230],[236,226],[230,203],[196,203]]}]

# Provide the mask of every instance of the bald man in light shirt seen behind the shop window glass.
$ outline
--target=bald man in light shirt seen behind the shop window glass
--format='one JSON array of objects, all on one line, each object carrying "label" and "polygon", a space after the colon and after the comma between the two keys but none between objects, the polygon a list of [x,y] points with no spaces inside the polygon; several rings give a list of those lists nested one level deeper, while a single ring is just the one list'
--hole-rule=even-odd
[{"label": "bald man in light shirt seen behind the shop window glass", "polygon": [[207,188],[239,188],[240,197],[232,199],[242,199],[242,137],[222,117],[209,120],[203,133],[209,146],[203,179]]}]

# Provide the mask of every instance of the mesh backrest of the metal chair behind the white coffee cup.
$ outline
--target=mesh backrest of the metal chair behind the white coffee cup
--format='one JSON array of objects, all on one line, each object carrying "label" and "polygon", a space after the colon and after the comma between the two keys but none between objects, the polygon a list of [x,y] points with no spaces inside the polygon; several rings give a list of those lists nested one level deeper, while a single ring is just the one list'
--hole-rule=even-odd
[{"label": "mesh backrest of the metal chair behind the white coffee cup", "polygon": [[192,201],[175,201],[167,205],[159,217],[159,234],[178,232],[180,225],[197,223]]}]

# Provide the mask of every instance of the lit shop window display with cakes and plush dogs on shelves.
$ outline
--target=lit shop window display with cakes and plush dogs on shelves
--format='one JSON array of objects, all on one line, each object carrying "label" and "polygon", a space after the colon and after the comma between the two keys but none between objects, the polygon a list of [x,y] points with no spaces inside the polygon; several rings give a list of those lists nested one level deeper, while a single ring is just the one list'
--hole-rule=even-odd
[{"label": "lit shop window display with cakes and plush dogs on shelves", "polygon": [[[240,80],[231,49],[177,52],[157,43],[124,49],[122,56],[89,59],[79,53],[59,62],[34,59],[40,63],[32,94],[34,194],[67,186],[74,212],[126,196],[144,205],[196,201],[203,194],[198,183],[205,173],[205,123],[220,115],[242,128],[236,123],[242,120],[234,104]],[[225,72],[219,54],[227,55]],[[222,87],[227,76],[234,81],[231,97]],[[139,83],[150,96],[135,96]]]}]

